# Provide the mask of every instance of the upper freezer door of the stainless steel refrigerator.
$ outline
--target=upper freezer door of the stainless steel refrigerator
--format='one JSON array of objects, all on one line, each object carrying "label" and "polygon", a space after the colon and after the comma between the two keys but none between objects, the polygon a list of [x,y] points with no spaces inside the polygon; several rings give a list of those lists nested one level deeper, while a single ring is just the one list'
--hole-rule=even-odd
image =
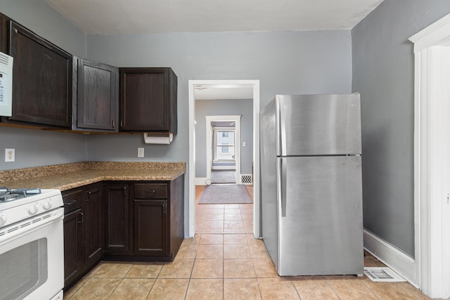
[{"label": "upper freezer door of the stainless steel refrigerator", "polygon": [[359,93],[276,96],[277,156],[361,154]]}]

